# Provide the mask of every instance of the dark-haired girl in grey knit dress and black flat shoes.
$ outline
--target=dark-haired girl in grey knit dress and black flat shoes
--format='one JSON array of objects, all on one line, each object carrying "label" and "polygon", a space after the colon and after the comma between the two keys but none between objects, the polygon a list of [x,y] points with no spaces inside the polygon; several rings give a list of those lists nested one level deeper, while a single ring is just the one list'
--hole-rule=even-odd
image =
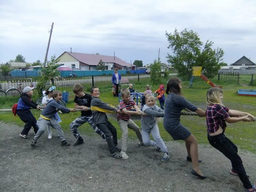
[{"label": "dark-haired girl in grey knit dress and black flat shoes", "polygon": [[180,123],[180,112],[183,109],[196,112],[200,116],[205,116],[205,112],[192,105],[181,96],[181,89],[182,86],[179,78],[172,77],[169,79],[166,88],[168,97],[165,104],[164,129],[172,136],[173,140],[185,141],[188,152],[187,160],[192,161],[193,169],[191,173],[200,179],[205,179],[206,177],[201,172],[198,164],[197,140],[194,135]]}]

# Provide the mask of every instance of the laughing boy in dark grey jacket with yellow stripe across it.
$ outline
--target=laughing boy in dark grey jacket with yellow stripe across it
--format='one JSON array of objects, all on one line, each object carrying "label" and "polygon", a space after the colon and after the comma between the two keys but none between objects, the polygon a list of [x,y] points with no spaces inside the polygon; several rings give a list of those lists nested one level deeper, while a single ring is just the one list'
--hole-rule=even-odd
[{"label": "laughing boy in dark grey jacket with yellow stripe across it", "polygon": [[117,108],[110,107],[107,103],[104,103],[99,99],[100,91],[98,87],[92,87],[90,89],[92,95],[91,110],[94,124],[105,134],[106,141],[110,155],[114,158],[120,159],[119,156],[121,149],[117,147],[117,135],[116,128],[108,121],[106,113],[121,113]]}]

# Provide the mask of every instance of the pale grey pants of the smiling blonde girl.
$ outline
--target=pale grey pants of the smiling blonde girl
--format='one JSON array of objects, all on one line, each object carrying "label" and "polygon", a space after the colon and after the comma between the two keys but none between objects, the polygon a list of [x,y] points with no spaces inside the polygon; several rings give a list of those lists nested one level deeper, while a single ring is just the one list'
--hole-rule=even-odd
[{"label": "pale grey pants of the smiling blonde girl", "polygon": [[[152,133],[152,136],[156,142],[150,140],[150,132]],[[168,152],[167,147],[165,146],[164,141],[160,136],[157,124],[154,125],[149,132],[146,132],[143,129],[141,129],[141,135],[144,145],[155,146],[157,144],[161,148],[162,152]]]}]

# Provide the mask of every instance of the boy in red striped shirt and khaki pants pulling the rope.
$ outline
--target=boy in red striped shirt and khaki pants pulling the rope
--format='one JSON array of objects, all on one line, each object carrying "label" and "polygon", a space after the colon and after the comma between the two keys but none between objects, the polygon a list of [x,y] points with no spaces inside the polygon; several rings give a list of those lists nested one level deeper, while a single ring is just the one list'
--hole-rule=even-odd
[{"label": "boy in red striped shirt and khaki pants pulling the rope", "polygon": [[[117,113],[117,123],[121,127],[122,130],[122,150],[121,155],[123,159],[128,159],[128,155],[126,154],[127,145],[128,145],[128,128],[132,129],[138,139],[140,140],[139,144],[144,145],[142,141],[142,136],[139,127],[130,119],[131,115],[141,115],[142,112],[140,108],[136,105],[135,101],[130,99],[130,91],[127,88],[121,90],[122,100],[120,102],[120,110],[122,114]],[[132,107],[135,111],[131,111]]]}]

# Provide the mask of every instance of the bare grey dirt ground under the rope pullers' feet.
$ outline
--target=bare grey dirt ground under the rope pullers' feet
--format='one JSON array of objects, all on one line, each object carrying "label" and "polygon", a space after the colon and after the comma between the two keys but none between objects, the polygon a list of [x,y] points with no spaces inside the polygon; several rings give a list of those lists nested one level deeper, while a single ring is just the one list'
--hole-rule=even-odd
[{"label": "bare grey dirt ground under the rope pullers' feet", "polygon": [[[245,191],[238,176],[229,173],[231,164],[219,151],[199,145],[201,170],[207,176],[199,180],[191,175],[186,161],[185,144],[166,142],[170,161],[160,161],[162,153],[152,147],[129,140],[128,160],[109,156],[105,140],[84,134],[84,144],[60,146],[57,132],[52,139],[47,133],[30,147],[30,139],[22,139],[22,127],[0,122],[0,191]],[[70,143],[76,140],[66,132]],[[119,141],[119,140],[118,140]],[[119,141],[120,143],[120,141]],[[239,150],[251,182],[256,181],[256,155]]]}]

